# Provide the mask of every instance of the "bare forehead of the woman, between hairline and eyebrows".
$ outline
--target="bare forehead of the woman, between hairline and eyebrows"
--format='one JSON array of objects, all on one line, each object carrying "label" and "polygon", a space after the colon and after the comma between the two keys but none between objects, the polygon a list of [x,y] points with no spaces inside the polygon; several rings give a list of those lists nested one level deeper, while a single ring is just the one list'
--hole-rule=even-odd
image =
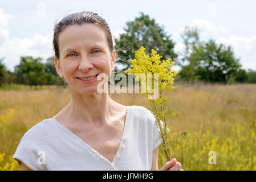
[{"label": "bare forehead of the woman, between hairline and eyebrows", "polygon": [[72,25],[59,34],[60,53],[73,47],[107,46],[105,31],[97,24],[87,23],[82,26]]}]

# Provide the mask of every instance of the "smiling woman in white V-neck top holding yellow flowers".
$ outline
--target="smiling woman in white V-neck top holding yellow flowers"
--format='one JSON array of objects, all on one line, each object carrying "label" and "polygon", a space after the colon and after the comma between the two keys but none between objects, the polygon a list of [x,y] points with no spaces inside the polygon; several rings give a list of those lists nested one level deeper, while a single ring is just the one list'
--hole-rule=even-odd
[{"label": "smiling woman in white V-neck top holding yellow flowers", "polygon": [[[153,114],[97,92],[97,76],[109,78],[115,68],[105,20],[86,11],[68,15],[55,25],[53,44],[56,71],[72,99],[23,136],[13,156],[21,170],[159,170]],[[181,170],[181,164],[173,159],[160,170]]]}]

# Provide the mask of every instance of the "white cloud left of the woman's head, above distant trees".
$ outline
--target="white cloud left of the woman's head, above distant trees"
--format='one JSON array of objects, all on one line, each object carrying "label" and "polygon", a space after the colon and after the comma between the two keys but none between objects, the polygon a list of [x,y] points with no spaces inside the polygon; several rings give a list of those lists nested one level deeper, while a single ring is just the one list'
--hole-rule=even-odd
[{"label": "white cloud left of the woman's head, above distant trees", "polygon": [[46,60],[53,56],[52,34],[35,34],[29,38],[9,38],[10,31],[7,29],[13,15],[5,14],[0,8],[0,59],[10,71],[14,71],[15,65],[19,64],[21,56],[42,57]]}]

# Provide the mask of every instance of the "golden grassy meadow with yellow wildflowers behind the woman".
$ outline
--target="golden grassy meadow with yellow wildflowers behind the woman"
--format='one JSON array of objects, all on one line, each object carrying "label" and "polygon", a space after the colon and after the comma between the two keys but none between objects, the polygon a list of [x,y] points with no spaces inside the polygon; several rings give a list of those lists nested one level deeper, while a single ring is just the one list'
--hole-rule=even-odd
[{"label": "golden grassy meadow with yellow wildflowers behind the woman", "polygon": [[[256,170],[256,84],[187,84],[169,92],[169,143],[185,170]],[[148,107],[144,95],[110,94],[123,105]],[[0,89],[0,170],[19,170],[11,159],[28,129],[70,102],[68,88]],[[165,163],[159,147],[159,168]],[[210,151],[216,164],[209,164]]]}]

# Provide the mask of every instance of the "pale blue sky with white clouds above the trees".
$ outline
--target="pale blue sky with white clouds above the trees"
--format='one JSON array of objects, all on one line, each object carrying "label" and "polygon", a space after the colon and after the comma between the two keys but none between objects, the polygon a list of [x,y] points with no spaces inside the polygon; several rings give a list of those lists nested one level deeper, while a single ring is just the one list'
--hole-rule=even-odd
[{"label": "pale blue sky with white clouds above the trees", "polygon": [[[93,11],[109,24],[113,36],[124,32],[125,23],[135,20],[140,12],[164,26],[182,52],[181,33],[185,26],[197,27],[200,39],[216,40],[231,46],[243,69],[256,70],[256,1],[4,1],[0,0],[0,59],[14,71],[21,56],[54,56],[54,24],[64,16],[80,11]],[[179,66],[173,67],[176,71]]]}]

